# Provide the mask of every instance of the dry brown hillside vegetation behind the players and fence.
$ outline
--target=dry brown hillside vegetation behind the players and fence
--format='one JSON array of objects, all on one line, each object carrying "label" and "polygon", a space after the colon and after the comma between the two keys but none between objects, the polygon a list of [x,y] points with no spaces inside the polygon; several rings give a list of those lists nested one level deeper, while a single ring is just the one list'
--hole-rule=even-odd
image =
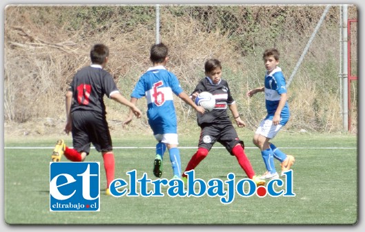
[{"label": "dry brown hillside vegetation behind the players and fence", "polygon": [[[255,129],[265,116],[264,94],[246,92],[263,85],[262,52],[275,47],[279,66],[288,81],[324,5],[159,6],[159,38],[169,47],[168,69],[190,94],[204,77],[204,61],[222,61],[241,118]],[[356,6],[348,18],[357,19]],[[107,70],[121,93],[129,98],[139,76],[150,67],[149,50],[155,43],[154,5],[27,6],[5,10],[4,117],[6,134],[62,133],[66,120],[64,95],[77,70],[90,64],[92,44],[110,48]],[[353,62],[357,67],[357,28],[353,30]],[[354,71],[357,74],[357,70]],[[291,118],[285,129],[341,132],[339,87],[339,6],[326,14],[308,53],[288,88]],[[357,132],[357,82],[351,86],[352,131]],[[150,133],[147,118],[121,122],[128,108],[106,100],[113,131]],[[146,101],[137,104],[146,110]],[[195,112],[175,101],[179,130],[197,129]],[[16,130],[15,127],[21,129]]]}]

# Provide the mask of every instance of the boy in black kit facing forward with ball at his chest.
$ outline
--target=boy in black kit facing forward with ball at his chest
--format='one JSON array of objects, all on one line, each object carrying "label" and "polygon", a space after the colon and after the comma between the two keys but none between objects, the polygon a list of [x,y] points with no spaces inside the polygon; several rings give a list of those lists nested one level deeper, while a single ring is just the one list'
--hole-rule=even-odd
[{"label": "boy in black kit facing forward with ball at his chest", "polygon": [[[231,156],[237,158],[239,165],[244,169],[248,178],[252,179],[257,186],[264,185],[265,180],[259,180],[255,176],[250,160],[244,152],[244,141],[238,138],[237,131],[227,114],[227,108],[229,108],[237,126],[245,126],[244,121],[239,117],[227,81],[221,79],[221,62],[217,59],[206,61],[205,74],[206,77],[199,81],[191,96],[195,99],[200,92],[210,92],[215,97],[216,104],[213,111],[197,115],[197,124],[201,127],[198,150],[188,162],[185,171],[195,169],[201,160],[208,156],[208,152],[213,145],[218,142],[226,147]],[[186,174],[184,173],[182,176],[184,182],[186,182]]]}]

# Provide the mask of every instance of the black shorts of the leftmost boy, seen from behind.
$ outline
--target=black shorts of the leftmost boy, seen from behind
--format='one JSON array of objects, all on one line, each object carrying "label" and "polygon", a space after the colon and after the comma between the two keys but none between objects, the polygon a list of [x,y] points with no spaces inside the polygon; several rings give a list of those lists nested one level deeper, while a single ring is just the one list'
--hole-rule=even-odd
[{"label": "black shorts of the leftmost boy, seen from behind", "polygon": [[72,144],[77,151],[90,153],[90,143],[99,152],[112,151],[112,139],[106,117],[95,112],[72,112]]}]

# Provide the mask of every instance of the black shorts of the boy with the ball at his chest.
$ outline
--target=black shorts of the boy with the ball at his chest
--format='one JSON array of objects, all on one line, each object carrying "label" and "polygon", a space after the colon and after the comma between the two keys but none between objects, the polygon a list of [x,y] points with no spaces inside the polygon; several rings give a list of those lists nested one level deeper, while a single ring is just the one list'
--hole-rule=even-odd
[{"label": "black shorts of the boy with the ball at his chest", "polygon": [[241,144],[241,146],[244,147],[244,141],[238,138],[237,131],[232,123],[204,125],[204,127],[201,128],[198,147],[203,147],[210,151],[215,142],[226,147],[231,155],[233,155],[233,147],[237,144]]}]

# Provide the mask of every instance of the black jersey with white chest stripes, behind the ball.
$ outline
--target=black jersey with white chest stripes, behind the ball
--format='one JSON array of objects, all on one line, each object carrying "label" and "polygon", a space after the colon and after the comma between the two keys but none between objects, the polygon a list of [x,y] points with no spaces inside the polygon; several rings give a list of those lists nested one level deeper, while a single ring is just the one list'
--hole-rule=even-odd
[{"label": "black jersey with white chest stripes, behind the ball", "polygon": [[221,79],[218,84],[214,84],[208,76],[201,79],[195,87],[195,92],[210,92],[215,97],[215,107],[211,112],[206,112],[203,115],[197,114],[197,123],[200,127],[204,124],[231,124],[227,114],[227,107],[235,103],[235,99],[230,95],[230,89],[227,81]]}]

